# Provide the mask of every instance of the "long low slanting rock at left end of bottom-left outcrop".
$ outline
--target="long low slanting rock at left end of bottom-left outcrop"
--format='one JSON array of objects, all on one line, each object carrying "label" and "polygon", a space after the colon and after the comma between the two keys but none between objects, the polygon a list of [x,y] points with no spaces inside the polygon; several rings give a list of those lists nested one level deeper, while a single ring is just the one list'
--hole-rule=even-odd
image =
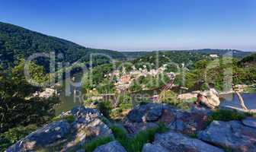
[{"label": "long low slanting rock at left end of bottom-left outcrop", "polygon": [[53,122],[27,135],[21,141],[8,147],[7,152],[30,151],[37,147],[46,147],[54,142],[61,141],[70,132],[70,125],[66,121]]}]

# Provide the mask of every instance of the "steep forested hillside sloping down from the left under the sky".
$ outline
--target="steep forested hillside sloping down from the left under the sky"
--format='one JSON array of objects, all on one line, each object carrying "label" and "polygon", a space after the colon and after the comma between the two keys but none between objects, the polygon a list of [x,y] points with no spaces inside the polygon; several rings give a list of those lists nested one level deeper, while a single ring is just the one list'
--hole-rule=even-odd
[{"label": "steep forested hillside sloping down from the left under the sky", "polygon": [[[19,58],[27,58],[35,52],[61,52],[64,55],[63,60],[70,63],[87,62],[92,52],[104,53],[114,59],[123,58],[120,52],[85,48],[67,40],[0,22],[0,60],[4,68],[17,65]],[[47,65],[47,61],[44,60],[37,62],[40,62],[40,65]],[[99,56],[98,62],[101,62]]]}]

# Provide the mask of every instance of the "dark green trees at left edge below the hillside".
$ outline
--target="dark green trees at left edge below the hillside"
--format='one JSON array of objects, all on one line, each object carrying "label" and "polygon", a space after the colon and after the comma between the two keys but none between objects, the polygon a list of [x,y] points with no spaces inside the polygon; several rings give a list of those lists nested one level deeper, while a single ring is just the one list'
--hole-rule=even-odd
[{"label": "dark green trees at left edge below the hillside", "polygon": [[[30,62],[29,68],[34,82],[47,81],[43,66]],[[35,87],[28,81],[24,76],[24,60],[18,61],[14,68],[0,66],[0,151],[55,116],[53,106],[59,103],[59,98],[34,96],[43,87]]]}]

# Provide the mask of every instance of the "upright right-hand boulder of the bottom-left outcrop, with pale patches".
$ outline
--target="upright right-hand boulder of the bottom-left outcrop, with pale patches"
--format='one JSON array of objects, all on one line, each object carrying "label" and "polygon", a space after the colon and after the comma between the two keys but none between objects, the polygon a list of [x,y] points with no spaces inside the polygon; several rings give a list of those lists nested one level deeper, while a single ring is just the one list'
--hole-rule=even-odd
[{"label": "upright right-hand boulder of the bottom-left outcrop, with pale patches", "polygon": [[72,150],[73,147],[85,144],[91,139],[114,137],[110,128],[103,122],[104,116],[97,109],[76,106],[61,116],[75,117],[75,122],[72,122],[72,133],[62,150]]}]

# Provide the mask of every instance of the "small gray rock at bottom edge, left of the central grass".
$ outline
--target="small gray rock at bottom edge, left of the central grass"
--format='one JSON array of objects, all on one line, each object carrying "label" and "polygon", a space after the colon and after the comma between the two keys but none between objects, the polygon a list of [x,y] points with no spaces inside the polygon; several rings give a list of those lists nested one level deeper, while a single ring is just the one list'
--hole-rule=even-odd
[{"label": "small gray rock at bottom edge, left of the central grass", "polygon": [[126,152],[126,150],[118,141],[111,141],[108,144],[97,147],[94,152]]}]

